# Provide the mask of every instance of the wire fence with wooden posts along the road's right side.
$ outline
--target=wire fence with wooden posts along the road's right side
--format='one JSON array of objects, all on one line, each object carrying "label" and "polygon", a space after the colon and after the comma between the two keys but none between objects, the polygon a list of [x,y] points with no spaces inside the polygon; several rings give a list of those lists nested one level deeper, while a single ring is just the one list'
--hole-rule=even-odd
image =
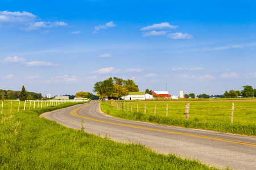
[{"label": "wire fence with wooden posts along the road's right side", "polygon": [[[106,100],[115,108],[128,112],[160,115],[192,120],[210,120],[256,124],[256,103],[154,103],[136,101]],[[188,106],[189,104],[189,106]],[[187,105],[187,107],[186,107]]]}]

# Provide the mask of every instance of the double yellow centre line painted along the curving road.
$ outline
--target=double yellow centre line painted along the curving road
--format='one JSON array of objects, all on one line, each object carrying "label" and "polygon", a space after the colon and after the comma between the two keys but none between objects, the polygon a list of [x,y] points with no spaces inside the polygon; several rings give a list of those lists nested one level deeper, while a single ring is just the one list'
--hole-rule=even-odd
[{"label": "double yellow centre line painted along the curving road", "polygon": [[97,121],[97,122],[104,122],[104,123],[107,123],[107,124],[113,124],[113,125],[119,125],[119,126],[127,126],[127,127],[130,127],[130,128],[138,128],[138,129],[146,129],[146,130],[153,130],[153,131],[161,131],[161,132],[172,133],[172,134],[181,134],[181,135],[188,135],[188,136],[191,136],[191,137],[214,139],[214,140],[217,140],[217,141],[232,142],[232,143],[238,143],[238,144],[242,144],[242,145],[256,146],[256,143],[250,143],[250,142],[235,141],[235,140],[224,139],[224,138],[216,138],[216,137],[208,137],[208,136],[205,136],[205,135],[197,135],[197,134],[178,133],[178,132],[175,132],[175,131],[168,131],[168,130],[154,129],[154,128],[146,128],[146,127],[142,127],[142,126],[135,126],[135,125],[129,125],[129,124],[120,124],[120,123],[115,123],[115,122],[103,121],[103,120],[98,120],[96,118],[84,117],[84,116],[81,116],[81,115],[76,113],[77,111],[79,111],[79,109],[85,107],[86,105],[83,105],[82,107],[79,107],[79,108],[73,110],[71,112],[71,114],[73,116],[85,118],[87,120],[92,120],[92,121]]}]

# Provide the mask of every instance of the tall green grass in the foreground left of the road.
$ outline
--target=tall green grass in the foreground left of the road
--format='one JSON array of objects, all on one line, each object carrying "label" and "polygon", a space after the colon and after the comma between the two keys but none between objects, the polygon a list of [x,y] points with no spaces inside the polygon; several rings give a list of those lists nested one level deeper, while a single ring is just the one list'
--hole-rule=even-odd
[{"label": "tall green grass in the foreground left of the road", "polygon": [[0,169],[216,169],[39,118],[71,105],[75,103],[1,114]]}]

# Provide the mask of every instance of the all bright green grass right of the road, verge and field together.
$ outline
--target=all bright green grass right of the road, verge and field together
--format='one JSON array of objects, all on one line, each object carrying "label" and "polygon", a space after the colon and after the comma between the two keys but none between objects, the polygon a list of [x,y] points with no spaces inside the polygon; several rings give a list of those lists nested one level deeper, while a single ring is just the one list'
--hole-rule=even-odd
[{"label": "all bright green grass right of the road, verge and field together", "polygon": [[[234,101],[234,116],[231,123],[232,102],[191,102],[189,108],[189,120],[185,120],[184,102],[120,102],[115,107],[102,103],[102,111],[112,116],[127,118],[129,120],[141,120],[158,124],[182,126],[185,128],[207,129],[256,135],[256,100],[250,102]],[[131,112],[131,104],[133,112]],[[138,104],[138,112],[137,112]],[[146,104],[146,114],[144,105]],[[166,105],[168,104],[168,116]],[[109,105],[109,106],[108,106]],[[155,112],[156,105],[156,115]],[[129,106],[129,108],[128,108]],[[124,108],[125,107],[125,108]],[[129,109],[129,112],[127,112]],[[124,111],[125,110],[125,111]]]}]

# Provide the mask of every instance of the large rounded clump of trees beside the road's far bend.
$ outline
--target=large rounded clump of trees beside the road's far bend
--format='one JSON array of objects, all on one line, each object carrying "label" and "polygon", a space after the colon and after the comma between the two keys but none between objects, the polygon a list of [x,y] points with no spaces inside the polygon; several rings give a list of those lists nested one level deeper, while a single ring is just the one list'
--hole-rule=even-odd
[{"label": "large rounded clump of trees beside the road's far bend", "polygon": [[93,92],[97,92],[97,96],[105,100],[105,98],[117,99],[121,96],[129,95],[129,92],[138,92],[139,87],[133,80],[123,80],[121,78],[108,78],[102,82],[94,84]]}]

